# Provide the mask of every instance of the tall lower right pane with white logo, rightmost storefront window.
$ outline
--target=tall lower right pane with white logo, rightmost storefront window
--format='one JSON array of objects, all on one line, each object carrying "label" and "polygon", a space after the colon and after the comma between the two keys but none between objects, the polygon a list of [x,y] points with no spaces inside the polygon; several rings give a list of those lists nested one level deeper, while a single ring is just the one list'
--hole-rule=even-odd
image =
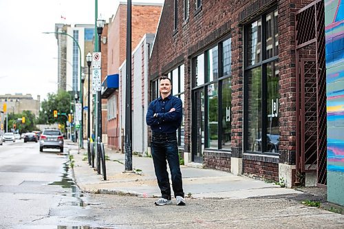
[{"label": "tall lower right pane with white logo, rightmost storefront window", "polygon": [[266,123],[267,141],[266,151],[278,152],[279,149],[279,66],[278,62],[271,62],[267,65],[268,81],[268,106]]}]

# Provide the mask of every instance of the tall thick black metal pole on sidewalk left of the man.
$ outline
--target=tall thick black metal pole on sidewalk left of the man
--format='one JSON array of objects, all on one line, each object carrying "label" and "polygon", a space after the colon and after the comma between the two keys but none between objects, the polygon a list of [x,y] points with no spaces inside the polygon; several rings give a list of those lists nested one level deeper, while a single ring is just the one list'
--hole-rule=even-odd
[{"label": "tall thick black metal pole on sidewalk left of the man", "polygon": [[125,78],[125,171],[133,170],[131,151],[131,0],[127,1],[127,61]]}]

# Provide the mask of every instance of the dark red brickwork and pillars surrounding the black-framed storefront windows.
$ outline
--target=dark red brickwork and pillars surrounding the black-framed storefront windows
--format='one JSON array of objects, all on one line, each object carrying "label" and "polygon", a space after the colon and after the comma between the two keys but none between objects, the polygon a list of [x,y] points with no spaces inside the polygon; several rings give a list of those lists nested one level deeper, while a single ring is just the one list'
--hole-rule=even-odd
[{"label": "dark red brickwork and pillars surrounding the black-framed storefront windows", "polygon": [[[180,2],[180,1],[178,1]],[[178,28],[174,30],[174,1],[166,0],[149,63],[151,79],[182,63],[185,65],[185,151],[191,151],[191,58],[224,37],[232,37],[232,156],[241,157],[243,144],[243,25],[277,6],[279,12],[279,162],[295,164],[296,136],[296,57],[294,14],[312,1],[256,0],[202,1],[195,9],[190,1],[189,20],[183,21],[183,6],[178,6]],[[180,58],[182,56],[182,59]],[[207,166],[211,155],[204,154]],[[211,156],[213,157],[213,156]],[[259,161],[257,161],[258,163]],[[272,163],[276,168],[279,162]],[[261,163],[261,162],[259,162]],[[267,162],[264,162],[267,163]],[[260,171],[270,166],[261,167]],[[257,173],[251,170],[250,173]],[[260,172],[259,172],[260,173]],[[270,171],[267,170],[270,174]],[[276,174],[270,175],[276,177]]]}]

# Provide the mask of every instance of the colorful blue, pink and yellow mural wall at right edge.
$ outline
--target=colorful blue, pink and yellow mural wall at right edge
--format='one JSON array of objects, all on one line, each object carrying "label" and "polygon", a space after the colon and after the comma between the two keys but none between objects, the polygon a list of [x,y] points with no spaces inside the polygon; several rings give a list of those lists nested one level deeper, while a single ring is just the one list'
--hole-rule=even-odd
[{"label": "colorful blue, pink and yellow mural wall at right edge", "polygon": [[327,199],[344,206],[344,1],[325,1]]}]

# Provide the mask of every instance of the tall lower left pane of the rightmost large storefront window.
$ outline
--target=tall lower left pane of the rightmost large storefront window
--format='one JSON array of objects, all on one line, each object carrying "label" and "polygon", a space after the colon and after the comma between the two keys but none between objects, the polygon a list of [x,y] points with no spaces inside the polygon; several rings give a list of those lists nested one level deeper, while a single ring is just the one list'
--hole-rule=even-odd
[{"label": "tall lower left pane of the rightmost large storefront window", "polygon": [[261,146],[261,67],[247,72],[248,79],[248,151]]}]

